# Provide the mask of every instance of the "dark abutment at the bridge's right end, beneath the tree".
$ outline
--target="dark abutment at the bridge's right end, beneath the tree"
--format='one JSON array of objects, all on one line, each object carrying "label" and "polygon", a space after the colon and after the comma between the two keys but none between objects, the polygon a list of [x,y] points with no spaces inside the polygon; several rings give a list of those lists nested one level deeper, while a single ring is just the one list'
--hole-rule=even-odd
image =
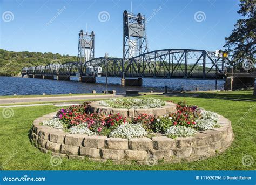
[{"label": "dark abutment at the bridge's right end, beneath the tree", "polygon": [[226,82],[224,85],[225,90],[239,90],[252,88],[255,84],[255,78],[253,77],[237,77],[237,76],[229,76],[226,78]]}]

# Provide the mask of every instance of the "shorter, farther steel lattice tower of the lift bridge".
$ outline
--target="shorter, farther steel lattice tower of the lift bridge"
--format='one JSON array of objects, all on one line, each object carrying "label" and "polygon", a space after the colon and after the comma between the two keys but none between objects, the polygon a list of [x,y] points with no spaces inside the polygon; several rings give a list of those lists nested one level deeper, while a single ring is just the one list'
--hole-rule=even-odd
[{"label": "shorter, farther steel lattice tower of the lift bridge", "polygon": [[83,30],[79,32],[78,37],[78,54],[77,61],[79,63],[85,63],[94,58],[94,33],[84,33]]}]

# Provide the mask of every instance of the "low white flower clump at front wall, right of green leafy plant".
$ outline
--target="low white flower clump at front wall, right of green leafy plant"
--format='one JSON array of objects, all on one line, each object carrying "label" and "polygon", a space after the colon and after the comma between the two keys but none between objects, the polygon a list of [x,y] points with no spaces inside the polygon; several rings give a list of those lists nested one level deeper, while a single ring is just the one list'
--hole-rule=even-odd
[{"label": "low white flower clump at front wall, right of green leafy plant", "polygon": [[193,136],[196,133],[197,131],[193,128],[187,128],[185,126],[172,126],[167,129],[165,135],[169,138],[177,138]]}]

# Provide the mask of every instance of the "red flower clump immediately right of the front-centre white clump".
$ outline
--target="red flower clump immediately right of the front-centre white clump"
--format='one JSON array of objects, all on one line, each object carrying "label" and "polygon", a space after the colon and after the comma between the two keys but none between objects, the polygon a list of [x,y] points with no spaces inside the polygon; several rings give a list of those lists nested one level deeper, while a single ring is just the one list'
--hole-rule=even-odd
[{"label": "red flower clump immediately right of the front-centre white clump", "polygon": [[147,131],[147,132],[152,132],[153,131],[153,122],[155,121],[155,117],[154,115],[150,115],[150,114],[140,114],[137,117],[132,118],[132,122],[134,124],[136,123],[141,123],[143,128]]}]

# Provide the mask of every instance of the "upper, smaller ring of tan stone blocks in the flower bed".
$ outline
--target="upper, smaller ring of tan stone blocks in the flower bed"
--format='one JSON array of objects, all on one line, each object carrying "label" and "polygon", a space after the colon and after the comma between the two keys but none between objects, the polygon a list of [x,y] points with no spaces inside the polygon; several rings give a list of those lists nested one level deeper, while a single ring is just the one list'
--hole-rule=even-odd
[{"label": "upper, smaller ring of tan stone blocks in the flower bed", "polygon": [[99,101],[90,103],[90,112],[103,114],[117,114],[120,113],[124,117],[137,117],[139,114],[152,114],[156,116],[163,116],[169,113],[176,112],[176,104],[165,102],[165,106],[161,108],[112,108],[99,105]]}]

